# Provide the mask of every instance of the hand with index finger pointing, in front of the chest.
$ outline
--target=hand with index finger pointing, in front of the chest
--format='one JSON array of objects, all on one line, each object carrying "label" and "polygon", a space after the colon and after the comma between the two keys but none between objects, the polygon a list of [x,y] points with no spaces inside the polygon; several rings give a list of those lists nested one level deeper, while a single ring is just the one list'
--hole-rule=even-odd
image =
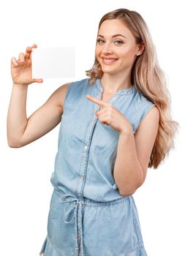
[{"label": "hand with index finger pointing, in front of the chest", "polygon": [[95,113],[102,124],[110,125],[110,127],[120,133],[132,129],[132,125],[127,118],[109,102],[94,98],[91,95],[87,95],[86,98],[100,106],[101,109]]}]

